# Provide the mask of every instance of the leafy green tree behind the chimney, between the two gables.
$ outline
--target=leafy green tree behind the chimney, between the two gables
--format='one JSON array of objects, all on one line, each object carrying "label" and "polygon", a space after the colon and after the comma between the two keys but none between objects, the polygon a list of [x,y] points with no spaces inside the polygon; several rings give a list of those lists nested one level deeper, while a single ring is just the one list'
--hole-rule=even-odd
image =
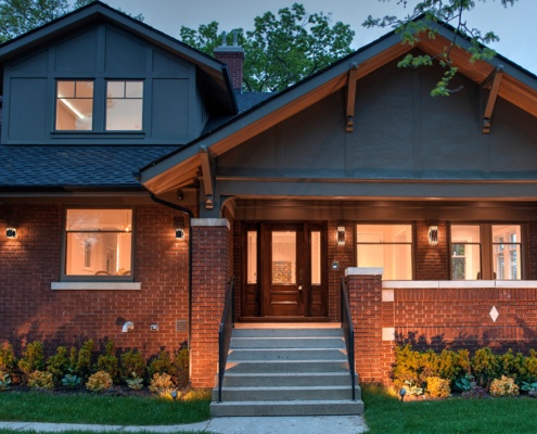
[{"label": "leafy green tree behind the chimney, between the two gables", "polygon": [[[243,86],[248,91],[280,91],[310,76],[350,53],[355,35],[348,24],[331,25],[330,14],[308,13],[299,3],[280,9],[278,16],[257,16],[253,30],[233,29],[228,44],[233,33],[244,48]],[[220,35],[217,22],[180,29],[183,42],[208,54],[220,44]]]}]

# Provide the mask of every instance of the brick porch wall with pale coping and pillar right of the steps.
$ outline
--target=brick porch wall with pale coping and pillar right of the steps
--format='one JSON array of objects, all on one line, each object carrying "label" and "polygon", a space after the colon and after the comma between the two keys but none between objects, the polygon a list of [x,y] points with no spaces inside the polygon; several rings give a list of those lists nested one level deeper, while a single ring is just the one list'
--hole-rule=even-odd
[{"label": "brick porch wall with pale coping and pillar right of the steps", "polygon": [[[348,269],[356,370],[362,382],[389,383],[394,349],[483,346],[526,352],[537,345],[537,282],[382,282],[378,271]],[[496,307],[496,321],[489,312]]]}]

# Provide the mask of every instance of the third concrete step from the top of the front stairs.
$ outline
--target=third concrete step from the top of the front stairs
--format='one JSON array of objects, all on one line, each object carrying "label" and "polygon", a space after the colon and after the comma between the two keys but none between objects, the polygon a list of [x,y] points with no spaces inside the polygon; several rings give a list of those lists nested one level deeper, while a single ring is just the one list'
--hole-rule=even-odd
[{"label": "third concrete step from the top of the front stairs", "polygon": [[343,348],[238,348],[228,362],[248,360],[347,360]]}]

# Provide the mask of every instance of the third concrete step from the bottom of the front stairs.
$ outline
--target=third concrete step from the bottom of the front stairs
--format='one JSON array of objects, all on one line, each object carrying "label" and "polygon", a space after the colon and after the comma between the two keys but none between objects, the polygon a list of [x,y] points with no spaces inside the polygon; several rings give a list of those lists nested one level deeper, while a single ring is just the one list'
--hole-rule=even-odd
[{"label": "third concrete step from the bottom of the front stairs", "polygon": [[278,372],[233,373],[226,372],[225,387],[246,386],[345,386],[350,384],[348,369],[340,372]]}]

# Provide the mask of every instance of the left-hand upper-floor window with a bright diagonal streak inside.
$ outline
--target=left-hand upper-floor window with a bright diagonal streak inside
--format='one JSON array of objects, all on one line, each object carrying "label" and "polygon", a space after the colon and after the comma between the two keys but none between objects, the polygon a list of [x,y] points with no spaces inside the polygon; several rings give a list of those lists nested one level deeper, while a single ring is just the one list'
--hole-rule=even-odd
[{"label": "left-hand upper-floor window with a bright diagonal streak inside", "polygon": [[93,129],[93,81],[57,81],[55,128],[59,131]]}]

